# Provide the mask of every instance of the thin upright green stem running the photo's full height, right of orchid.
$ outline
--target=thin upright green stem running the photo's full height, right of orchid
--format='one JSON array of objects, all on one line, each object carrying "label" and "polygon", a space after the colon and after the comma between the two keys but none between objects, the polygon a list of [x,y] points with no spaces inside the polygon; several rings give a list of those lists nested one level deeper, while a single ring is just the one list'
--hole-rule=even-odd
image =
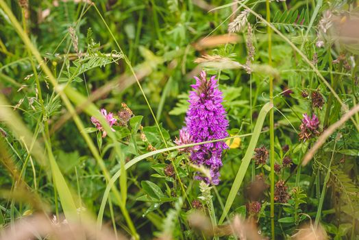
[{"label": "thin upright green stem running the photo's full height, right of orchid", "polygon": [[[269,0],[266,0],[267,22],[271,23],[271,8]],[[272,29],[267,25],[268,32],[268,58],[269,66],[272,66]],[[269,75],[269,102],[273,106],[273,76]],[[271,233],[272,239],[275,239],[274,231],[274,109],[269,111],[269,138],[271,141],[270,161],[271,161]]]}]

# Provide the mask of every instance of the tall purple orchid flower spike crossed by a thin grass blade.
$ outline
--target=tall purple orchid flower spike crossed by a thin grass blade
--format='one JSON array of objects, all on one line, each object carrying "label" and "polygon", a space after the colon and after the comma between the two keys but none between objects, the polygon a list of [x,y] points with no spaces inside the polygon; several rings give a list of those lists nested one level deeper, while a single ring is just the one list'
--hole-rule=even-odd
[{"label": "tall purple orchid flower spike crossed by a thin grass blade", "polygon": [[[223,96],[219,91],[215,76],[206,78],[206,72],[201,71],[199,77],[195,77],[196,84],[191,85],[190,106],[186,115],[186,134],[193,143],[223,139],[228,136],[228,121],[226,112],[222,106]],[[187,135],[186,135],[187,136]],[[190,159],[196,165],[205,165],[210,168],[212,179],[195,176],[197,180],[207,183],[219,184],[219,169],[222,167],[222,152],[228,148],[225,142],[206,143],[191,150]]]}]

